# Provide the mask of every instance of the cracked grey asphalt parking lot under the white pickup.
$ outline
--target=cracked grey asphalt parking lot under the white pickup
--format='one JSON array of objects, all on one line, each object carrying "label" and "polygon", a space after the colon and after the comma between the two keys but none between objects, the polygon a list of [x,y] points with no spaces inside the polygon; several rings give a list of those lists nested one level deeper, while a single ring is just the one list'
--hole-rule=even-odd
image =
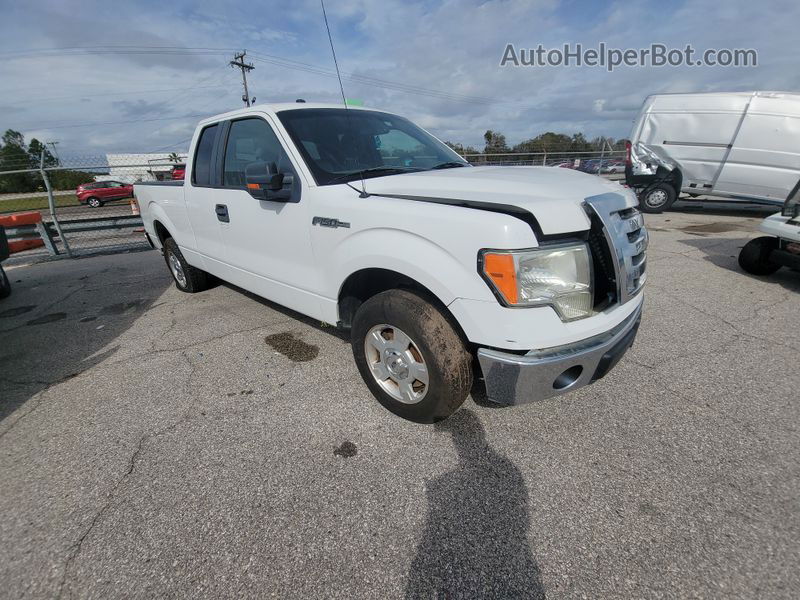
[{"label": "cracked grey asphalt parking lot under the white pickup", "polygon": [[2,595],[797,597],[800,274],[736,263],[771,212],[648,215],[614,371],[435,426],[345,335],[154,251],[12,264]]}]

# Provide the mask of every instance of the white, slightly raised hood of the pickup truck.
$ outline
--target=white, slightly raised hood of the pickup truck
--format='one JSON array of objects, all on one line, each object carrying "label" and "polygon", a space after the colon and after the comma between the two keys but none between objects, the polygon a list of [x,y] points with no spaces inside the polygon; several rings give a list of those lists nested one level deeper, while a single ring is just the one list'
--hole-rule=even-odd
[{"label": "white, slightly raised hood of the pickup truck", "polygon": [[365,184],[369,194],[511,205],[530,212],[545,235],[589,229],[583,209],[589,196],[617,193],[628,206],[636,205],[633,192],[616,182],[557,167],[462,167],[375,177]]}]

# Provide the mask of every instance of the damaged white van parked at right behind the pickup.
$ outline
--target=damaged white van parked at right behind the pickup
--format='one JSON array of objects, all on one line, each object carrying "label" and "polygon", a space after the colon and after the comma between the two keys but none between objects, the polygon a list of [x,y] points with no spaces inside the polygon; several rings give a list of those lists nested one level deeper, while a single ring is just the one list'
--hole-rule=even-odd
[{"label": "damaged white van parked at right behind the pickup", "polygon": [[649,96],[625,176],[645,212],[666,210],[680,192],[783,204],[800,177],[800,94]]}]

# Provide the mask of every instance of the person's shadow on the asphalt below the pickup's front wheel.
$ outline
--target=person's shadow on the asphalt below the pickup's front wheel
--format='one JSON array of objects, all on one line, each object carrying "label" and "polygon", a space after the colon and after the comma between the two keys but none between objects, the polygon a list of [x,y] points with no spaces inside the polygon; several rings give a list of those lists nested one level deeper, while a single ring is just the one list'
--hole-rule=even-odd
[{"label": "person's shadow on the asphalt below the pickup's front wheel", "polygon": [[435,428],[450,434],[459,463],[426,486],[428,517],[406,598],[545,598],[519,469],[488,445],[469,410]]}]

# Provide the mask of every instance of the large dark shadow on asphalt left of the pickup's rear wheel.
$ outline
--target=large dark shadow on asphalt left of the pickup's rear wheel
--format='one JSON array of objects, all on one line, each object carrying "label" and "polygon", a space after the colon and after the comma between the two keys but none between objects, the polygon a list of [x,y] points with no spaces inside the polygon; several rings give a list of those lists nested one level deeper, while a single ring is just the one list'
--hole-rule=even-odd
[{"label": "large dark shadow on asphalt left of the pickup's rear wheel", "polygon": [[[43,390],[112,356],[114,341],[172,283],[160,261],[159,276],[142,285],[130,280],[138,264],[109,265],[115,260],[64,260],[8,271],[13,291],[0,302],[0,422]],[[155,273],[149,263],[146,269],[143,279]]]}]

